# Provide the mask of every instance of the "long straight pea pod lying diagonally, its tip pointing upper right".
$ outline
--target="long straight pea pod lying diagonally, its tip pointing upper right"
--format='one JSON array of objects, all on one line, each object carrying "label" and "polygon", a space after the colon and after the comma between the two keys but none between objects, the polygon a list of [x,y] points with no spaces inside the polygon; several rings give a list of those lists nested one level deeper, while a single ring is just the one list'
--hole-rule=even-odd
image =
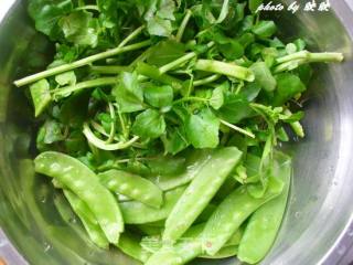
[{"label": "long straight pea pod lying diagonally, its tip pointing upper right", "polygon": [[163,241],[176,241],[203,212],[242,157],[235,147],[216,150],[186,188],[165,222]]}]

